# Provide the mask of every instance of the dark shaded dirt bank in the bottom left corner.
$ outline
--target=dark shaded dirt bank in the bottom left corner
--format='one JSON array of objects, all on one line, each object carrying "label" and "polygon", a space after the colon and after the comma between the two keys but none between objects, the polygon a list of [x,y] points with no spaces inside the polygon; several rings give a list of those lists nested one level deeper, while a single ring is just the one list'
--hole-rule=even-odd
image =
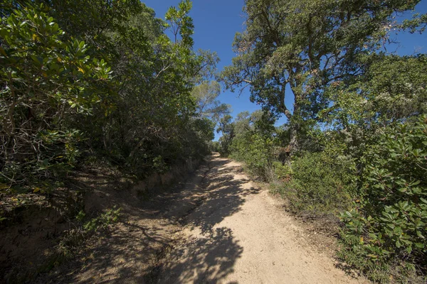
[{"label": "dark shaded dirt bank in the bottom left corner", "polygon": [[71,229],[81,195],[60,188],[55,196],[0,196],[0,283],[23,283],[52,266],[58,237]]}]

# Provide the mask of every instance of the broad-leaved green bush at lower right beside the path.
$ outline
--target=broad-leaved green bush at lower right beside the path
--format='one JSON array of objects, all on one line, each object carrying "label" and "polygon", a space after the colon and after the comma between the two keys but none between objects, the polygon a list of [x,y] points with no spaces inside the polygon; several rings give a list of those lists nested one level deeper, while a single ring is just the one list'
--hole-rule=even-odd
[{"label": "broad-leaved green bush at lower right beside the path", "polygon": [[362,202],[342,214],[340,256],[374,280],[426,272],[427,118],[391,127],[364,156]]}]

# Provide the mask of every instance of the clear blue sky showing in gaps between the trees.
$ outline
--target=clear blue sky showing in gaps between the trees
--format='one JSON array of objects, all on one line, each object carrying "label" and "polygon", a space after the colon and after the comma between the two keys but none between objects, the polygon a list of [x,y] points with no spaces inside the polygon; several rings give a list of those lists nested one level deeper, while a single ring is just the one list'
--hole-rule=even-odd
[{"label": "clear blue sky showing in gaps between the trees", "polygon": [[[142,0],[147,6],[156,11],[158,18],[164,19],[164,14],[170,6],[177,6],[179,0]],[[194,0],[190,16],[194,20],[194,48],[216,51],[221,62],[218,70],[231,64],[231,58],[235,56],[231,45],[236,32],[242,32],[243,26],[243,0]],[[416,12],[427,13],[427,0],[422,0],[416,7]],[[405,18],[411,18],[407,14]],[[399,19],[398,19],[399,20]],[[399,40],[399,45],[389,46],[389,52],[399,55],[412,55],[427,52],[427,32],[423,35],[401,33],[393,35]],[[260,109],[256,104],[249,101],[249,90],[246,89],[240,97],[238,92],[222,92],[219,99],[221,102],[231,104],[233,117],[241,111],[255,111]],[[292,94],[287,94],[287,105],[292,109]],[[279,119],[277,125],[284,124],[285,118]],[[216,134],[215,140],[219,135]]]}]

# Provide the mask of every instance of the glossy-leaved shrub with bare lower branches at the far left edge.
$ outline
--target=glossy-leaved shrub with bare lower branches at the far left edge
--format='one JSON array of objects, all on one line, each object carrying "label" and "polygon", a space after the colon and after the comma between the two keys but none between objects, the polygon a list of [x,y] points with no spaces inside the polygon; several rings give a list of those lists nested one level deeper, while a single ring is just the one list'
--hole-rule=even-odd
[{"label": "glossy-leaved shrub with bare lower branches at the far left edge", "polygon": [[107,63],[90,58],[83,41],[63,40],[44,10],[29,5],[1,18],[0,167],[11,186],[37,184],[74,165],[80,132],[63,126],[108,95]]}]

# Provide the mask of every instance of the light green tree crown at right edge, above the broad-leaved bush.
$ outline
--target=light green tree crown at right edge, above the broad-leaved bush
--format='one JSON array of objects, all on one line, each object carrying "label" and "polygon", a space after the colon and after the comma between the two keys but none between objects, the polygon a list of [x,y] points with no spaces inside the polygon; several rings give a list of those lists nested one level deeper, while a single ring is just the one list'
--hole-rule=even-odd
[{"label": "light green tree crown at right edge, above the broad-leaved bush", "polygon": [[361,129],[424,114],[427,109],[427,57],[372,54],[360,59],[364,73],[327,89],[334,104],[320,117],[334,126]]}]

